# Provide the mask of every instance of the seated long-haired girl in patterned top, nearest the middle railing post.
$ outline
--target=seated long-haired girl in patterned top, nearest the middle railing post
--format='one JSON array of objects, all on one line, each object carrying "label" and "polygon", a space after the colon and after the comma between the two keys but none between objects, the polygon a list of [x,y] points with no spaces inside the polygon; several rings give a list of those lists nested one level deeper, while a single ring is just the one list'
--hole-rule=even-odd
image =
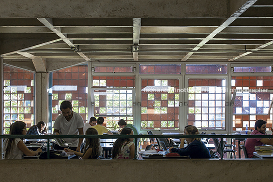
[{"label": "seated long-haired girl in patterned top, nearest the middle railing post", "polygon": [[[133,135],[132,128],[124,127],[120,135]],[[118,138],[112,149],[112,159],[133,159],[133,138]]]}]

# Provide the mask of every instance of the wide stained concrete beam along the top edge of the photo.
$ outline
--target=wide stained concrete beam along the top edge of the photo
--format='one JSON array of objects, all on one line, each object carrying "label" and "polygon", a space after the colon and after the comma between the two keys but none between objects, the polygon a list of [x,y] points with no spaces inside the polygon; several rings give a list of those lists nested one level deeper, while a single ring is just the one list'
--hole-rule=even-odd
[{"label": "wide stained concrete beam along the top edge of the photo", "polygon": [[228,0],[10,0],[1,2],[0,15],[32,18],[227,17],[227,2]]}]

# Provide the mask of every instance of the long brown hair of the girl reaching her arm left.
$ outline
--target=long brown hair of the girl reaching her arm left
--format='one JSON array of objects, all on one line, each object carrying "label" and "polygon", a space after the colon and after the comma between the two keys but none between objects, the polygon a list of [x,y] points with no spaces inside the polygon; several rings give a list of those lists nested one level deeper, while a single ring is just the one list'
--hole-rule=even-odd
[{"label": "long brown hair of the girl reaching her arm left", "polygon": [[[87,129],[86,135],[98,135],[98,131],[97,129],[90,127]],[[99,138],[87,138],[84,153],[89,148],[92,148],[91,159],[97,159],[100,155],[102,155],[102,147],[100,146]]]}]

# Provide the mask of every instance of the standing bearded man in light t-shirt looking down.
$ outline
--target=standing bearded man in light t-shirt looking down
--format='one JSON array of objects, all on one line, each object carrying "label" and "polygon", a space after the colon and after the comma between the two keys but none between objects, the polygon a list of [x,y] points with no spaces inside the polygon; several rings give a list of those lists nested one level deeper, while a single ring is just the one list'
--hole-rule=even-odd
[{"label": "standing bearded man in light t-shirt looking down", "polygon": [[[84,120],[78,114],[72,111],[71,102],[65,100],[61,103],[60,110],[62,114],[59,115],[54,123],[54,135],[84,135]],[[65,141],[70,146],[71,150],[80,152],[80,144],[83,138],[66,138]]]}]

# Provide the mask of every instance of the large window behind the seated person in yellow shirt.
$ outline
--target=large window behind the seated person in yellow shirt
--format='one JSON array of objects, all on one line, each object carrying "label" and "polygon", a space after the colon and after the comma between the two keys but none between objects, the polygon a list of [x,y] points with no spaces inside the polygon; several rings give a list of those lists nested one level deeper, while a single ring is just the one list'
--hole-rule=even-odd
[{"label": "large window behind the seated person in yellow shirt", "polygon": [[[98,67],[96,69],[104,70]],[[122,67],[113,68],[115,69],[121,70]],[[131,71],[129,68],[126,70]],[[104,117],[104,123],[108,129],[119,129],[120,119],[133,124],[134,76],[93,76],[92,88],[91,100],[94,105],[94,115]]]}]

